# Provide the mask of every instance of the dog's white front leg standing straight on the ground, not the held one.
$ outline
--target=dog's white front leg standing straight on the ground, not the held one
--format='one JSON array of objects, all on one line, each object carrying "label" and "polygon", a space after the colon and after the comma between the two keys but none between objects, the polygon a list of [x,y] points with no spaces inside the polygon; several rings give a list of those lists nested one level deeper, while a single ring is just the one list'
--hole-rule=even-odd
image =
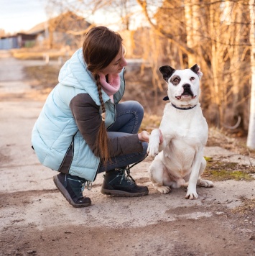
[{"label": "dog's white front leg standing straight on the ground, not the held one", "polygon": [[191,167],[189,185],[187,186],[187,193],[185,196],[186,199],[198,198],[197,181],[198,181],[198,177],[200,175],[199,170],[200,170],[200,165],[201,165],[202,159],[203,159],[203,150],[198,149],[198,151],[195,153],[193,165]]}]

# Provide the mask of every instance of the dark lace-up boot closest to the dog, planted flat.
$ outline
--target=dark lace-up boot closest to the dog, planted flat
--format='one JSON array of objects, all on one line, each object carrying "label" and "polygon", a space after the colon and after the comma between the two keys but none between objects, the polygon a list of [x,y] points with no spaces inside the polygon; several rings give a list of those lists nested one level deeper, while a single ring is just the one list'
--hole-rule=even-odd
[{"label": "dark lace-up boot closest to the dog, planted flat", "polygon": [[149,190],[147,186],[136,185],[127,167],[106,172],[101,193],[111,196],[146,196]]}]

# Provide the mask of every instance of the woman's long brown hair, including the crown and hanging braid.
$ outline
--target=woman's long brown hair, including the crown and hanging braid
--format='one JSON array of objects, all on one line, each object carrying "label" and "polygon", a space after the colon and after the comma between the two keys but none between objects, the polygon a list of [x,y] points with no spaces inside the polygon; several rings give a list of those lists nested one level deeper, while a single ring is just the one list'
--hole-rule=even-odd
[{"label": "woman's long brown hair, including the crown and hanging braid", "polygon": [[[103,68],[106,68],[116,55],[118,55],[121,45],[121,36],[118,33],[113,32],[111,29],[103,26],[93,27],[90,29],[85,35],[83,42],[83,58],[87,64],[88,70],[91,71],[96,80],[98,96],[103,114],[106,114],[106,108],[103,104],[101,91],[102,86],[98,73]],[[101,126],[98,131],[96,145],[100,152],[100,157],[103,159],[103,162],[106,163],[106,161],[110,160],[110,155],[108,150],[108,135],[104,119],[102,119]]]}]

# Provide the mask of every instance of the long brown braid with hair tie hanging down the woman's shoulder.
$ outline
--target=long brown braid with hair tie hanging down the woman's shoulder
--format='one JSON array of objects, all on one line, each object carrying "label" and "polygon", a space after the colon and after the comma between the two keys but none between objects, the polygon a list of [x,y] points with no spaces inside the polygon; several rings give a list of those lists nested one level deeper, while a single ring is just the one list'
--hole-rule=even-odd
[{"label": "long brown braid with hair tie hanging down the woman's shoulder", "polygon": [[100,78],[98,75],[95,75],[96,79],[96,86],[98,88],[98,96],[102,107],[102,122],[98,130],[98,139],[96,141],[96,145],[100,152],[100,157],[103,159],[103,163],[106,163],[110,160],[109,150],[108,150],[108,135],[106,132],[106,126],[105,126],[105,114],[106,114],[106,108],[103,104],[103,97],[102,97],[102,86],[100,83]]}]

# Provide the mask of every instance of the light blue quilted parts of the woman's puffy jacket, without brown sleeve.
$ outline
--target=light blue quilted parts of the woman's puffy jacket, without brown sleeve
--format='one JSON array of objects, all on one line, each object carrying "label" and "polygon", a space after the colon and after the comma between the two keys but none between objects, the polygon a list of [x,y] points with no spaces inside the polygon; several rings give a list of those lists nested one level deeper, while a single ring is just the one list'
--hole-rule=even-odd
[{"label": "light blue quilted parts of the woman's puffy jacket, without brown sleeve", "polygon": [[[114,102],[121,100],[124,94],[124,70],[120,73],[121,86],[114,94]],[[73,147],[73,161],[70,165],[70,175],[78,175],[86,180],[96,178],[100,158],[96,157],[86,144],[73,118],[69,104],[79,93],[88,93],[98,106],[101,106],[96,82],[87,70],[80,48],[62,66],[59,83],[51,91],[42,108],[37,122],[32,130],[32,146],[40,163],[59,170],[65,154]],[[115,104],[102,91],[106,107],[106,127],[111,126],[116,119]]]}]

